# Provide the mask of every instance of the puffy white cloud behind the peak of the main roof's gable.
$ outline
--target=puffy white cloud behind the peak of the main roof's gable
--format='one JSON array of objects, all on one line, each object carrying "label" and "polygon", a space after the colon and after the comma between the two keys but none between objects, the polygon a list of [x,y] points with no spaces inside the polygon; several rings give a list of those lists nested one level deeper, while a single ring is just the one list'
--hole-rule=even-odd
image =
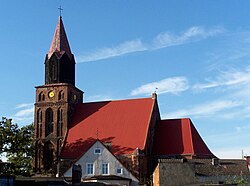
[{"label": "puffy white cloud behind the peak of the main roof's gable", "polygon": [[161,81],[148,83],[134,89],[132,96],[141,94],[152,94],[157,89],[158,94],[172,93],[177,94],[188,89],[188,80],[185,77],[171,77]]}]

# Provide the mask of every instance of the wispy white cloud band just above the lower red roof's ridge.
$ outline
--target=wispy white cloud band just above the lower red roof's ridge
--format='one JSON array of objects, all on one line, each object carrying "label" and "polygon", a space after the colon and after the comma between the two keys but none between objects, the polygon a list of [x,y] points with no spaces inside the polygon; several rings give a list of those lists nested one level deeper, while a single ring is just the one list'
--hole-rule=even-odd
[{"label": "wispy white cloud band just above the lower red roof's ridge", "polygon": [[183,117],[209,117],[224,110],[240,106],[240,103],[230,100],[219,100],[196,105],[189,109],[182,109],[175,112],[163,114],[163,118],[183,118]]}]

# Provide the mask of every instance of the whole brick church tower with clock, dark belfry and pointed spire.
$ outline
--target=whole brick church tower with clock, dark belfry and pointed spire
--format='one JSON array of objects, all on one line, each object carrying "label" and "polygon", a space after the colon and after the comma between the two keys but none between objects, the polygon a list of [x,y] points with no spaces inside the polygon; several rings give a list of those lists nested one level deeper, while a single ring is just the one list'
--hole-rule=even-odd
[{"label": "whole brick church tower with clock, dark belfry and pointed spire", "polygon": [[83,92],[75,87],[74,55],[71,53],[60,16],[45,58],[45,84],[36,87],[36,172],[51,173],[55,168],[74,107],[82,102]]}]

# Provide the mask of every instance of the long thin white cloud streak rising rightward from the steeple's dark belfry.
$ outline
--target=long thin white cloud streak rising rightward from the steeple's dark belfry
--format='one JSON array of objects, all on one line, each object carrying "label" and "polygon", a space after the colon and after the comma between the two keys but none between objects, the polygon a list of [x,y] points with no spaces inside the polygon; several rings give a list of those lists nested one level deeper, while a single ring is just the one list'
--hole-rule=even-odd
[{"label": "long thin white cloud streak rising rightward from the steeple's dark belfry", "polygon": [[194,26],[185,32],[176,35],[169,32],[157,35],[150,43],[143,43],[140,39],[123,42],[115,47],[105,47],[98,49],[91,53],[78,56],[78,63],[97,61],[111,57],[122,56],[129,53],[157,50],[169,46],[182,45],[185,43],[205,39],[207,37],[215,36],[224,32],[223,28],[204,29],[202,27]]}]

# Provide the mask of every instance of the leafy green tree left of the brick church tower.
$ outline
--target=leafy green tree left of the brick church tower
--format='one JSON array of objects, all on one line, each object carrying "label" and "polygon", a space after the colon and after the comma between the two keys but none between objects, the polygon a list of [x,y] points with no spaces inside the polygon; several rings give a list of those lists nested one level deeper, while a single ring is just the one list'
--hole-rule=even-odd
[{"label": "leafy green tree left of the brick church tower", "polygon": [[4,174],[29,176],[32,174],[32,155],[34,127],[33,124],[19,128],[11,119],[5,117],[0,122],[0,154],[5,153],[7,163],[2,170]]}]

